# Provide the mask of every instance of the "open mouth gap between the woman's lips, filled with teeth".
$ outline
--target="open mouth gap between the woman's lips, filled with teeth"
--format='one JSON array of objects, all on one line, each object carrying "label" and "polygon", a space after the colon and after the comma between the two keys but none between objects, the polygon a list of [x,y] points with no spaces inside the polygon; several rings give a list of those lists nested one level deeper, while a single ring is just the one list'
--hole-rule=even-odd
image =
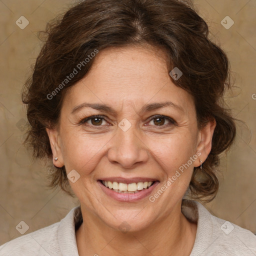
[{"label": "open mouth gap between the woman's lips, filled with teeth", "polygon": [[105,187],[117,193],[138,193],[144,189],[148,189],[156,181],[139,181],[132,183],[122,183],[117,181],[99,180]]}]

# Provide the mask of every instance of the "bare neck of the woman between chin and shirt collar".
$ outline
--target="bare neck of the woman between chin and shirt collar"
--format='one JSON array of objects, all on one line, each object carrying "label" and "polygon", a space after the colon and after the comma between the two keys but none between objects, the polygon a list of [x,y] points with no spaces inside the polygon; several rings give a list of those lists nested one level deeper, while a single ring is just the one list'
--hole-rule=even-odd
[{"label": "bare neck of the woman between chin and shirt collar", "polygon": [[168,216],[145,229],[126,233],[102,224],[81,208],[85,221],[76,231],[78,253],[80,256],[188,256],[194,244],[196,224],[186,219],[180,205],[181,202]]}]

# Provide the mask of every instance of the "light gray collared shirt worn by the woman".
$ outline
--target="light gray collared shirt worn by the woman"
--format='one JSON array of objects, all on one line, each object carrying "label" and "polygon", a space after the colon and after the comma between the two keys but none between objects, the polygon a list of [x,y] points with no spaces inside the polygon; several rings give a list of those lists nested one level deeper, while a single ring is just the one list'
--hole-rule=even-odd
[{"label": "light gray collared shirt worn by the woman", "polygon": [[[256,256],[256,236],[249,230],[213,216],[193,200],[182,200],[181,211],[197,222],[190,256]],[[79,213],[75,207],[60,222],[6,242],[0,246],[0,256],[78,256],[75,223]]]}]

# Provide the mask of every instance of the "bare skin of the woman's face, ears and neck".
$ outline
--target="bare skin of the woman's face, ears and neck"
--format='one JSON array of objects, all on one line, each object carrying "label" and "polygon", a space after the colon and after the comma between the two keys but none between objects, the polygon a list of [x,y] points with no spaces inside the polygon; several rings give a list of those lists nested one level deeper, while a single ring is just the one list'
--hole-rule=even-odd
[{"label": "bare skin of the woman's face, ears and neck", "polygon": [[[83,223],[76,231],[79,255],[189,255],[196,223],[182,214],[181,200],[193,167],[203,162],[211,149],[215,121],[198,129],[193,99],[169,76],[164,53],[157,48],[128,46],[100,51],[90,72],[65,95],[60,121],[46,129],[54,165],[75,169],[80,178],[70,186],[81,203]],[[172,101],[141,111],[145,104]],[[116,113],[83,107],[84,102],[111,106]],[[91,115],[103,115],[81,123]],[[174,119],[150,118],[161,114]],[[118,123],[131,126],[123,131]],[[160,125],[157,125],[157,120]],[[159,180],[150,195],[189,157],[200,156],[154,202],[148,196],[136,202],[119,202],[106,195],[97,180],[102,177],[151,177]],[[126,221],[128,232],[118,227]]]}]

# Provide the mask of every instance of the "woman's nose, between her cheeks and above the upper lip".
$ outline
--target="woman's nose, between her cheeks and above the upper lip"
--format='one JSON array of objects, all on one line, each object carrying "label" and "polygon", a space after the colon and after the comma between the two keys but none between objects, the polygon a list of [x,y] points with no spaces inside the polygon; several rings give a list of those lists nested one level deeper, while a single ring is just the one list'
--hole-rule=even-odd
[{"label": "woman's nose, between her cheeks and above the upper lip", "polygon": [[126,131],[117,127],[109,144],[107,158],[110,162],[118,163],[127,169],[147,161],[147,146],[139,138],[134,124]]}]

